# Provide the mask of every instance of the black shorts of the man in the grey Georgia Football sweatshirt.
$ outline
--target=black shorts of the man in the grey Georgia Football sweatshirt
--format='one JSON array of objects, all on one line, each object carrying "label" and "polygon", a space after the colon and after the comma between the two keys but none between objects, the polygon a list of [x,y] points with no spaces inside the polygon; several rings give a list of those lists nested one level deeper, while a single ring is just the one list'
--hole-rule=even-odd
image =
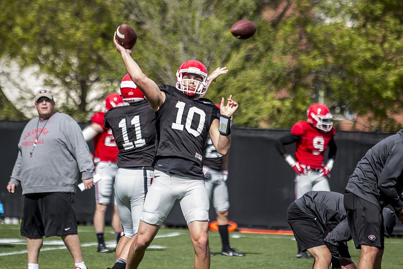
[{"label": "black shorts of the man in the grey Georgia Football sweatshirt", "polygon": [[28,238],[77,234],[74,193],[25,195],[21,235]]}]

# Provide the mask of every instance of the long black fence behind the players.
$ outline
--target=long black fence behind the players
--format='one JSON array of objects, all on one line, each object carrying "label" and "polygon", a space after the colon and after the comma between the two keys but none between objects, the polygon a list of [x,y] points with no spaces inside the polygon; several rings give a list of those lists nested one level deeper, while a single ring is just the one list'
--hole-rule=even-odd
[{"label": "long black fence behind the players", "polygon": [[[17,143],[26,122],[0,121],[0,198],[5,213],[1,217],[21,218],[23,197],[21,189],[9,194],[6,186],[17,157]],[[81,124],[82,127],[85,124]],[[289,130],[232,129],[232,146],[229,155],[230,195],[229,219],[239,227],[256,229],[289,229],[286,210],[294,200],[294,171],[279,155],[274,142]],[[337,157],[330,174],[332,191],[343,193],[350,175],[358,161],[369,148],[391,134],[338,131],[335,142]],[[93,149],[92,142],[89,143]],[[289,152],[295,145],[288,146]],[[327,152],[325,154],[327,156]],[[91,224],[95,210],[94,190],[76,195],[76,213],[80,223]],[[110,222],[111,208],[106,213]],[[215,220],[214,209],[210,210],[210,220]],[[165,221],[167,226],[185,226],[180,207],[175,204]],[[396,225],[395,233],[403,232],[403,226]]]}]

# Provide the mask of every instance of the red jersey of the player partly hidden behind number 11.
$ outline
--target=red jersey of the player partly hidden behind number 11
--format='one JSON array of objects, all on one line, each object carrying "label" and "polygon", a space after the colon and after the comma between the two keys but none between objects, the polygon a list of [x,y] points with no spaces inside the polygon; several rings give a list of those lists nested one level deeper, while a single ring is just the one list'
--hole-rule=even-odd
[{"label": "red jersey of the player partly hidden behind number 11", "polygon": [[105,112],[97,112],[92,116],[91,122],[100,125],[104,130],[102,133],[94,137],[94,162],[117,162],[117,149],[115,138],[112,134],[112,129],[104,126]]}]

